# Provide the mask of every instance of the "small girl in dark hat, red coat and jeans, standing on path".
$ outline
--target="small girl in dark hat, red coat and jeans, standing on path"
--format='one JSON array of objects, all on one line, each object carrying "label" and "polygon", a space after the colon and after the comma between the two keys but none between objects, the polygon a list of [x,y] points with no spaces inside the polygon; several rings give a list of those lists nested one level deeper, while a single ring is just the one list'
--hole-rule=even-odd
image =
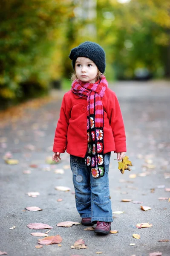
[{"label": "small girl in dark hat, red coat and jeans, standing on path", "polygon": [[83,225],[96,225],[95,233],[111,230],[109,194],[111,151],[121,160],[126,152],[126,136],[120,106],[103,75],[103,48],[86,41],[71,50],[75,70],[72,88],[65,93],[55,131],[52,159],[58,162],[65,150],[75,187],[75,201]]}]

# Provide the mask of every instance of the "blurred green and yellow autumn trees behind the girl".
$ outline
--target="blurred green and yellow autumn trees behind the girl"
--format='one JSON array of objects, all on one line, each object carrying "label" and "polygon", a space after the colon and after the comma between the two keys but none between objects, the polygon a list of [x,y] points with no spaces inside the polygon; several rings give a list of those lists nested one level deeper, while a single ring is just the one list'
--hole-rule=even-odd
[{"label": "blurred green and yellow autumn trees behind the girl", "polygon": [[1,108],[67,84],[69,52],[85,40],[104,47],[111,81],[169,78],[170,2],[1,0]]}]

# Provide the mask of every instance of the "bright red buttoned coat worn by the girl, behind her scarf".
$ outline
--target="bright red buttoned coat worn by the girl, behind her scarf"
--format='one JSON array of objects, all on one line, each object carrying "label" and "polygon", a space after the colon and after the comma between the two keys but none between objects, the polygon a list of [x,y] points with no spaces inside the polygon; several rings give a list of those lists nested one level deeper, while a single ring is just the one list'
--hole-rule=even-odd
[{"label": "bright red buttoned coat worn by the girl, behind her scarf", "polygon": [[[107,88],[104,107],[104,153],[126,152],[126,135],[121,109],[115,93]],[[85,157],[87,151],[87,100],[69,90],[64,94],[55,130],[53,152]]]}]

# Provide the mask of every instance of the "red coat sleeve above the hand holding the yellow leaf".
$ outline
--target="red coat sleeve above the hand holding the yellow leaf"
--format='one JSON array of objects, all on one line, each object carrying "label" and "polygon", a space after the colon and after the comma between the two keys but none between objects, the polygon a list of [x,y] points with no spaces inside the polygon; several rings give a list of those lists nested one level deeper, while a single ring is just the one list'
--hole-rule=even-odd
[{"label": "red coat sleeve above the hand holding the yellow leaf", "polygon": [[126,152],[124,121],[118,98],[114,92],[109,93],[106,112],[109,117],[109,122],[112,127],[113,137],[115,140],[115,152]]}]

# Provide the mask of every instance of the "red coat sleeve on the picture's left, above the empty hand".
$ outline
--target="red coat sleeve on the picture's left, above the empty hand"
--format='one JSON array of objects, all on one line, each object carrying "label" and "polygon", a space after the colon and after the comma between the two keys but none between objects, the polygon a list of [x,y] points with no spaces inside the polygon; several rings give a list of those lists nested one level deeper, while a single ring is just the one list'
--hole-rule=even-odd
[{"label": "red coat sleeve on the picture's left, above the empty hand", "polygon": [[67,93],[65,93],[61,104],[60,117],[55,129],[53,152],[64,153],[66,150],[70,113],[70,100],[67,99]]}]

